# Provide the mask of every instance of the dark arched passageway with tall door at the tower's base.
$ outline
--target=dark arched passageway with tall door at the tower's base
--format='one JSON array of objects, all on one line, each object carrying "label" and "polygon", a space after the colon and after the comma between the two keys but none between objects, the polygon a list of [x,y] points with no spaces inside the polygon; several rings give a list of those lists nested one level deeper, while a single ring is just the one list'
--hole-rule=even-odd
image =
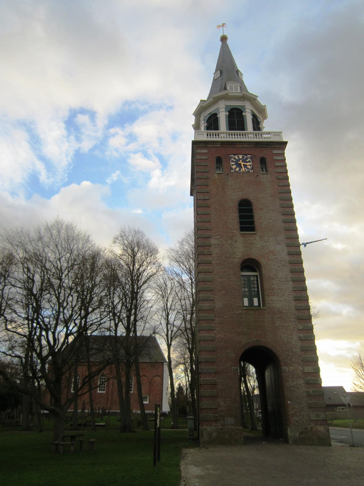
[{"label": "dark arched passageway with tall door at the tower's base", "polygon": [[[281,365],[277,355],[269,348],[253,346],[240,357],[240,364],[253,366],[259,389],[263,435],[283,438]],[[240,366],[241,369],[241,366]],[[243,409],[242,409],[242,413]]]}]

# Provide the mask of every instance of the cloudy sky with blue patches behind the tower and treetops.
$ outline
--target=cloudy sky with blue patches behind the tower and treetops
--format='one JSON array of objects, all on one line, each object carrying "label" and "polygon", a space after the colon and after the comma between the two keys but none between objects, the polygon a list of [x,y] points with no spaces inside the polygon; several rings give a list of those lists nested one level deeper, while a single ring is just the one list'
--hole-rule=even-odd
[{"label": "cloudy sky with blue patches behind the tower and treetops", "polygon": [[324,385],[351,386],[363,331],[364,11],[355,0],[2,0],[0,224],[57,214],[108,245],[192,227],[192,113],[226,22],[288,172]]}]

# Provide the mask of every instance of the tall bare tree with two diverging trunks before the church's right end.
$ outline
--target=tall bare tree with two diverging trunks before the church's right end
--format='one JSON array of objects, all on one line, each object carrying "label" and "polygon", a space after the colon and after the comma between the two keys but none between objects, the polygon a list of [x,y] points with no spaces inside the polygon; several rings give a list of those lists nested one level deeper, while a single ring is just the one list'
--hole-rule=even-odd
[{"label": "tall bare tree with two diverging trunks before the church's right end", "polygon": [[116,247],[115,256],[122,270],[122,306],[121,324],[123,327],[124,352],[124,424],[122,430],[132,432],[130,414],[130,380],[132,366],[135,368],[136,385],[140,414],[144,430],[149,430],[145,413],[142,382],[139,369],[139,356],[146,346],[146,340],[138,339],[145,333],[151,305],[151,287],[153,279],[161,269],[158,247],[146,234],[133,227],[122,227],[113,239]]}]

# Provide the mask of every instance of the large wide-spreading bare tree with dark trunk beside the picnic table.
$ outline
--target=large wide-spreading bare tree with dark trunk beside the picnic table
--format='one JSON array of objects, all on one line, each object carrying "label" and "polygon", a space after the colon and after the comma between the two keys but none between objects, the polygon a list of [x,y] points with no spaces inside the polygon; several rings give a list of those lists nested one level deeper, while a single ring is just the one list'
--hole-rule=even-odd
[{"label": "large wide-spreading bare tree with dark trunk beside the picnic table", "polygon": [[[85,336],[100,325],[102,252],[89,235],[58,218],[32,231],[7,231],[2,243],[12,270],[2,291],[1,352],[21,363],[17,389],[54,415],[54,440],[60,440],[74,394],[87,393],[88,382],[106,366],[85,375],[70,396],[65,393]],[[50,400],[39,393],[43,384]]]}]

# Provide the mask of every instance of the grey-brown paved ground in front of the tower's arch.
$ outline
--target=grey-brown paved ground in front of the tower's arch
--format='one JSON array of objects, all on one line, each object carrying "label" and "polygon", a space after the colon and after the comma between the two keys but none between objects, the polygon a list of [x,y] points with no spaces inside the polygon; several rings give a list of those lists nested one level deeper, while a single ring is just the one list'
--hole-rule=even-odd
[{"label": "grey-brown paved ground in front of the tower's arch", "polygon": [[364,485],[361,447],[290,446],[257,436],[244,441],[185,449],[181,486]]}]

